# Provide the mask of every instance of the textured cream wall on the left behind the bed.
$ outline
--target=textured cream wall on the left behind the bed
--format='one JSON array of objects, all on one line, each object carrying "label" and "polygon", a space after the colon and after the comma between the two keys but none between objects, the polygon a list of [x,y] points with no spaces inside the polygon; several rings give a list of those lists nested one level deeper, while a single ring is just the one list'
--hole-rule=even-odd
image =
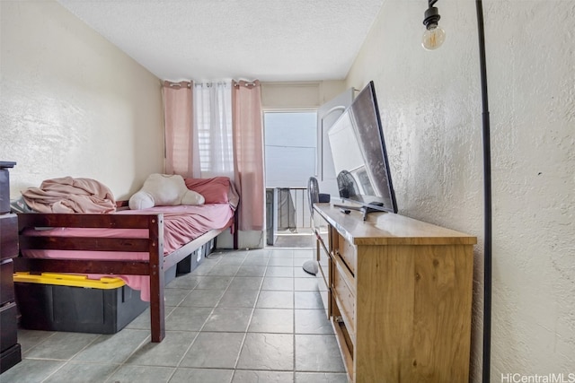
[{"label": "textured cream wall on the left behind the bed", "polygon": [[95,178],[128,198],[163,170],[159,80],[53,1],[0,2],[0,160],[11,197]]}]

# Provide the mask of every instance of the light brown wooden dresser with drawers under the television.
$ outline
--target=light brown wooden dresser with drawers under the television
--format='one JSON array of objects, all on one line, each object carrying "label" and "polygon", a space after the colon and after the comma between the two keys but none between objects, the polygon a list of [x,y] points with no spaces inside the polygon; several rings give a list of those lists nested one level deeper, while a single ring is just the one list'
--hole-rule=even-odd
[{"label": "light brown wooden dresser with drawers under the television", "polygon": [[314,205],[318,278],[353,382],[467,382],[477,239]]}]

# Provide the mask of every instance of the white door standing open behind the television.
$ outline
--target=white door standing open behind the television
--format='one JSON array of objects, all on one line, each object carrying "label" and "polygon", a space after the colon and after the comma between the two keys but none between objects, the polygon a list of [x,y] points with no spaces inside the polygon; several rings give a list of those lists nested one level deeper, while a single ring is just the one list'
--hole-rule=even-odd
[{"label": "white door standing open behind the television", "polygon": [[320,193],[327,193],[332,197],[339,197],[340,192],[338,190],[335,168],[333,167],[332,148],[330,147],[327,132],[343,111],[351,105],[354,96],[353,91],[353,88],[349,88],[317,109],[315,178],[317,178]]}]

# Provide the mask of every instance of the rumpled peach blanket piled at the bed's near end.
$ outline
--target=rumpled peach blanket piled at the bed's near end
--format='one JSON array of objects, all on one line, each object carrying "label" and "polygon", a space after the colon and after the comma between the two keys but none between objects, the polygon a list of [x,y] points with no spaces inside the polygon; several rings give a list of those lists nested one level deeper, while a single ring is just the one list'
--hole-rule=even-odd
[{"label": "rumpled peach blanket piled at the bed's near end", "polygon": [[51,178],[29,187],[22,196],[39,213],[113,213],[116,200],[110,188],[91,178]]}]

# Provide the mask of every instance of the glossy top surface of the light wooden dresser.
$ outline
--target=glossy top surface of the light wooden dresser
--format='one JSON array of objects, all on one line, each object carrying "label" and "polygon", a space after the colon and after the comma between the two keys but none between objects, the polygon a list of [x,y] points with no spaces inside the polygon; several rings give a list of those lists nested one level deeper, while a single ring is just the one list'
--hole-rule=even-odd
[{"label": "glossy top surface of the light wooden dresser", "polygon": [[342,213],[332,204],[315,204],[314,209],[340,234],[355,245],[473,245],[477,238],[459,231],[421,222],[400,214]]}]

